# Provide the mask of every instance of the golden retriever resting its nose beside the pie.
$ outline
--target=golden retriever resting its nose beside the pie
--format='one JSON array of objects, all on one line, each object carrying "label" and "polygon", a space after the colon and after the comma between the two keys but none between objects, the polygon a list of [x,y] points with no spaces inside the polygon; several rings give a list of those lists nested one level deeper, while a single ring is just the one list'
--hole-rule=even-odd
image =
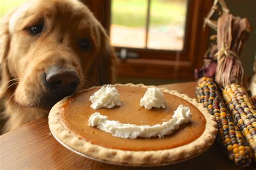
[{"label": "golden retriever resting its nose beside the pie", "polygon": [[83,3],[23,4],[0,24],[5,131],[47,115],[78,90],[111,83],[116,60],[103,27]]}]

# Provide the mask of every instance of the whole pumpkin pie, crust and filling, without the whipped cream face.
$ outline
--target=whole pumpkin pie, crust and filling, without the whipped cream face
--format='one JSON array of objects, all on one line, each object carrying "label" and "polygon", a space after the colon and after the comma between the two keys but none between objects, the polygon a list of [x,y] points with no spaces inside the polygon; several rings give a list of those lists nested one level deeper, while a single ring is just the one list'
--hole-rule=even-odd
[{"label": "whole pumpkin pie, crust and filling, without the whipped cream face", "polygon": [[[217,133],[217,123],[202,104],[184,94],[161,88],[166,108],[145,109],[140,98],[148,87],[143,84],[115,84],[120,94],[120,107],[90,107],[89,98],[101,87],[84,89],[65,97],[50,111],[49,127],[64,145],[97,160],[113,164],[159,165],[192,158],[210,147]],[[94,112],[109,120],[136,125],[156,125],[172,119],[180,104],[190,108],[192,119],[163,138],[119,138],[88,125]]]}]

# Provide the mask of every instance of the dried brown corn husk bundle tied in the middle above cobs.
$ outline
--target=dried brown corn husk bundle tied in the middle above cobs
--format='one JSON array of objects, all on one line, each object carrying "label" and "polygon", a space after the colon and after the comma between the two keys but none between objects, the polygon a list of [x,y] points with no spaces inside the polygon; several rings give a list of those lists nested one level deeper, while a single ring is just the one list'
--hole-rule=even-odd
[{"label": "dried brown corn husk bundle tied in the middle above cobs", "polygon": [[217,27],[218,52],[215,57],[218,65],[215,81],[221,87],[231,83],[244,84],[244,69],[239,56],[249,36],[251,26],[247,18],[241,19],[230,13],[224,13],[219,17]]}]

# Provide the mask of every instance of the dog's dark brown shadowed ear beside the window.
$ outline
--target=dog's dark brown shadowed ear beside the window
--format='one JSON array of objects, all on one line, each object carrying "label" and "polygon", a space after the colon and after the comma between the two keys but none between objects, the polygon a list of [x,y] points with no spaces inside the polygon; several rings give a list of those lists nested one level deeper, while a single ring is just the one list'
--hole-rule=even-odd
[{"label": "dog's dark brown shadowed ear beside the window", "polygon": [[116,67],[119,61],[102,25],[98,25],[98,32],[100,34],[100,49],[96,56],[95,67],[91,69],[91,75],[92,79],[96,81],[96,85],[101,86],[115,81]]}]

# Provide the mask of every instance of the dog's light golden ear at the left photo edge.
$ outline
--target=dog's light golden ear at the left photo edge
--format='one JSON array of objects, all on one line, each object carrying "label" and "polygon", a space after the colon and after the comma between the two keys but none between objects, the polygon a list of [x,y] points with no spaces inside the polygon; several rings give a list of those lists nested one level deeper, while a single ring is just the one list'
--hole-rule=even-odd
[{"label": "dog's light golden ear at the left photo edge", "polygon": [[4,96],[9,86],[10,75],[7,66],[7,55],[10,47],[9,20],[12,12],[3,17],[0,21],[0,97]]}]

